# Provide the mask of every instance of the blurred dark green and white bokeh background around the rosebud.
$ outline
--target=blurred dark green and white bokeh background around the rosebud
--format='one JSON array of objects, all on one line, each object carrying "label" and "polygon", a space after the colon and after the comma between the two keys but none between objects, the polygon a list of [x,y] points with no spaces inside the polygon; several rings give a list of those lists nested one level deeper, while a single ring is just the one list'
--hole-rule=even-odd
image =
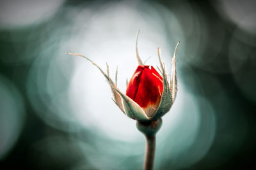
[{"label": "blurred dark green and white bokeh background around the rosebud", "polygon": [[[138,49],[178,93],[154,169],[253,169],[255,1],[0,1],[0,169],[142,169],[145,139],[100,71],[134,73]],[[170,78],[170,76],[169,76]]]}]

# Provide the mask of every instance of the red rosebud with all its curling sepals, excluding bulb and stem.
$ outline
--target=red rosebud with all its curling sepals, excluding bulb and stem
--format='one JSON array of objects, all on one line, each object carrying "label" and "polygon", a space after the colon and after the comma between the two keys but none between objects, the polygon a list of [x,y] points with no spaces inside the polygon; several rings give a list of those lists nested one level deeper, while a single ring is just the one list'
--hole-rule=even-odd
[{"label": "red rosebud with all its curling sepals, excluding bulb and stem", "polygon": [[137,48],[138,35],[136,39],[136,57],[139,66],[134,72],[131,80],[127,85],[126,94],[121,92],[116,87],[115,83],[109,77],[109,67],[107,64],[107,73],[105,73],[95,62],[76,53],[68,53],[78,55],[92,62],[93,65],[98,67],[100,72],[105,76],[111,90],[113,92],[113,101],[130,118],[140,122],[148,122],[157,120],[168,112],[175,100],[177,93],[177,74],[176,74],[176,54],[178,42],[172,59],[172,73],[170,84],[168,83],[163,62],[160,56],[160,48],[158,48],[158,57],[161,66],[161,75],[157,73],[153,66],[144,66],[138,55]]}]

